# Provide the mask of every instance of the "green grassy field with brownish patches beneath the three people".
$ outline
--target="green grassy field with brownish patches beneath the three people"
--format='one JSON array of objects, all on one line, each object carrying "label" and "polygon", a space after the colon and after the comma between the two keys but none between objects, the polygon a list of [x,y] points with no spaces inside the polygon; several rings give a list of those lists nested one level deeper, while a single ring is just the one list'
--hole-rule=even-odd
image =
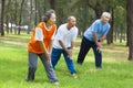
[{"label": "green grassy field with brownish patches beneath the three people", "polygon": [[[68,72],[63,57],[57,65],[60,86],[49,82],[43,66],[38,61],[35,80],[24,80],[28,70],[28,35],[0,38],[0,88],[132,88],[133,62],[127,61],[127,47],[123,45],[103,46],[103,68],[95,69],[92,50],[82,66],[76,65],[80,46],[74,48],[74,65],[78,78]],[[78,38],[79,41],[80,38]]]}]

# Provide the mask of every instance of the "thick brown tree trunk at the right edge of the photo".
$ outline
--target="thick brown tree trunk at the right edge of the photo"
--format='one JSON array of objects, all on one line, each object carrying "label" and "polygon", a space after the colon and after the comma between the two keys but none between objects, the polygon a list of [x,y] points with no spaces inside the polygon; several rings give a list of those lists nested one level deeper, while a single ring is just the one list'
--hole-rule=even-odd
[{"label": "thick brown tree trunk at the right edge of the photo", "polygon": [[129,61],[133,61],[133,0],[126,0],[126,21],[129,37]]}]

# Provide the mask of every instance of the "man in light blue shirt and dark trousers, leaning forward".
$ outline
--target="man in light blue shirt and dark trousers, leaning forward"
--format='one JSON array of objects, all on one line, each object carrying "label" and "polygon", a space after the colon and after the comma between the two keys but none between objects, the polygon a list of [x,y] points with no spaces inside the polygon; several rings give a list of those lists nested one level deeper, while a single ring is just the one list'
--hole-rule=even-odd
[{"label": "man in light blue shirt and dark trousers, leaning forward", "polygon": [[93,48],[95,57],[95,67],[102,67],[102,42],[105,38],[110,30],[109,20],[111,14],[103,12],[101,19],[95,20],[92,25],[84,32],[80,53],[78,56],[78,64],[82,64],[86,53],[90,48]]}]

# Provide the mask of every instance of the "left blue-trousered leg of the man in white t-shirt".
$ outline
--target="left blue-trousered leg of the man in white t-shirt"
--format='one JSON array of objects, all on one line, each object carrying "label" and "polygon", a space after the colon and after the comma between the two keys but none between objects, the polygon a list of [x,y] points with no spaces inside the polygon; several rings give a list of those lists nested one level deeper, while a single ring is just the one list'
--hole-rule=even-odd
[{"label": "left blue-trousered leg of the man in white t-shirt", "polygon": [[61,57],[61,52],[62,50],[52,48],[51,63],[52,63],[53,68],[55,68],[55,65],[58,64],[58,61]]}]

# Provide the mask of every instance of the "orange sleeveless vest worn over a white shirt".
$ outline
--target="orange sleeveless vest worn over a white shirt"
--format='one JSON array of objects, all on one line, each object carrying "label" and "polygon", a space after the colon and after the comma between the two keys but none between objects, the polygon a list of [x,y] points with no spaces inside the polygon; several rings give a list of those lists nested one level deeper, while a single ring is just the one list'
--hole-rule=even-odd
[{"label": "orange sleeveless vest worn over a white shirt", "polygon": [[[50,45],[50,42],[51,42],[51,37],[52,35],[54,34],[54,32],[57,31],[57,26],[55,24],[52,25],[52,28],[48,31],[44,26],[44,22],[40,22],[37,28],[40,28],[42,30],[42,33],[43,33],[43,43],[47,47],[47,50],[49,48],[49,45]],[[33,31],[33,34],[30,38],[30,42],[29,42],[29,45],[28,45],[28,51],[29,52],[32,52],[32,53],[37,53],[37,54],[41,54],[41,53],[44,53],[43,50],[41,50],[40,45],[39,45],[39,42],[34,38],[35,37],[35,30],[38,29],[34,29]]]}]

